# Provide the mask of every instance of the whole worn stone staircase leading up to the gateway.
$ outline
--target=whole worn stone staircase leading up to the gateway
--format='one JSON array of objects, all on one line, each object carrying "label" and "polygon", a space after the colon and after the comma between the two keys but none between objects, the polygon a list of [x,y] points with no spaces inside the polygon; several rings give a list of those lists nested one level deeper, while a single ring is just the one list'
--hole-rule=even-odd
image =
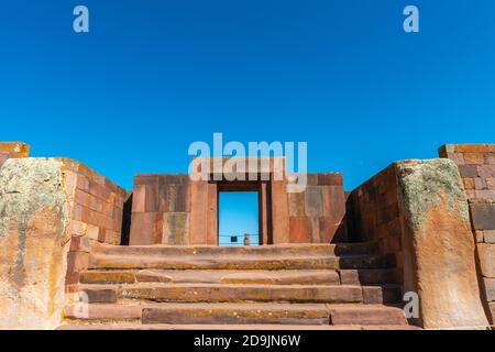
[{"label": "whole worn stone staircase leading up to the gateway", "polygon": [[413,329],[376,243],[99,244],[61,329]]}]

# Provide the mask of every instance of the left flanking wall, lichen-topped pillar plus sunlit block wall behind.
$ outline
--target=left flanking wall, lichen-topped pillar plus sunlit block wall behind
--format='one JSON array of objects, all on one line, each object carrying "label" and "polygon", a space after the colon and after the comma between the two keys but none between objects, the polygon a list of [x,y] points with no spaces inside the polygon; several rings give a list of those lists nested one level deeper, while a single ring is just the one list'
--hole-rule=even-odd
[{"label": "left flanking wall, lichen-topped pillar plus sunlit block wall behind", "polygon": [[68,158],[0,168],[0,328],[53,329],[96,242],[120,243],[125,191]]}]

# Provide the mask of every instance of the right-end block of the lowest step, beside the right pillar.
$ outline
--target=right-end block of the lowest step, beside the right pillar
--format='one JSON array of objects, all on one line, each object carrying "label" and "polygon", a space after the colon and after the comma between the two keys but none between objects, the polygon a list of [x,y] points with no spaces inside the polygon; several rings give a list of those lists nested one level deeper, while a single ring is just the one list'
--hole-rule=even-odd
[{"label": "right-end block of the lowest step, beside the right pillar", "polygon": [[331,324],[406,326],[404,311],[381,305],[327,305]]}]

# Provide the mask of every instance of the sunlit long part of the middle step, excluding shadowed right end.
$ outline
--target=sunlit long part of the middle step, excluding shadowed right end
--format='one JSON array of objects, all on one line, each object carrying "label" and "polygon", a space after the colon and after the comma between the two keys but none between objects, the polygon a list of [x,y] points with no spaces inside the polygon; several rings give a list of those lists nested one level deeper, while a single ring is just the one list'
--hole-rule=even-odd
[{"label": "sunlit long part of the middle step, excluding shadowed right end", "polygon": [[82,284],[204,283],[266,285],[339,285],[337,271],[87,271]]}]

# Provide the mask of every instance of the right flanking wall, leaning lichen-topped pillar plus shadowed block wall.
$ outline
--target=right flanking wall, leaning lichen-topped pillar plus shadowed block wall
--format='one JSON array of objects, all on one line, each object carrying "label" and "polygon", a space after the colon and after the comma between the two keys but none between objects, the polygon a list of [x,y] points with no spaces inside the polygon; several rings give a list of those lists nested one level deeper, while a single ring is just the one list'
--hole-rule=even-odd
[{"label": "right flanking wall, leaning lichen-topped pillar plus shadowed block wall", "polygon": [[476,285],[468,200],[451,161],[394,163],[348,199],[354,240],[376,240],[419,298],[428,329],[488,324]]}]

